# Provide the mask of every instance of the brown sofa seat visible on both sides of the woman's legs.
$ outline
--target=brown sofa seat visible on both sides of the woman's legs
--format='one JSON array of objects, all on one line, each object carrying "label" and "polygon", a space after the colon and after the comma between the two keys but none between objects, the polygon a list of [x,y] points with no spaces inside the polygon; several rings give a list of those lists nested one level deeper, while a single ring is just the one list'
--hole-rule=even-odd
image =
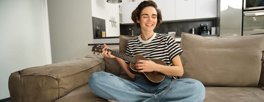
[{"label": "brown sofa seat visible on both sides of the woman's legs", "polygon": [[[203,102],[261,102],[264,91],[257,87],[206,87],[206,98]],[[55,102],[107,102],[91,92],[84,85]]]}]

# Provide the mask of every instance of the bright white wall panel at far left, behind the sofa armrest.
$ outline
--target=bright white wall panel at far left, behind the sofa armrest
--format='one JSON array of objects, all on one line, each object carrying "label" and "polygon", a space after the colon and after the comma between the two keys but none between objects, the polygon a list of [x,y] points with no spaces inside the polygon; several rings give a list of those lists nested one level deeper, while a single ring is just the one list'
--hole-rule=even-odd
[{"label": "bright white wall panel at far left, behind the sofa armrest", "polygon": [[0,99],[10,97],[9,75],[51,64],[46,0],[0,0]]}]

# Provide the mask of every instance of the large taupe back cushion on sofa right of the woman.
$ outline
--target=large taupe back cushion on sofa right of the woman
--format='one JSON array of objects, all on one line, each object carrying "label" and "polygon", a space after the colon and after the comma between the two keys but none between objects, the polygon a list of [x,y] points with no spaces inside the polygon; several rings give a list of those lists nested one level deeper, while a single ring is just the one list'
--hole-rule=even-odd
[{"label": "large taupe back cushion on sofa right of the woman", "polygon": [[182,34],[180,47],[182,78],[194,78],[205,86],[258,86],[264,34],[223,38]]}]

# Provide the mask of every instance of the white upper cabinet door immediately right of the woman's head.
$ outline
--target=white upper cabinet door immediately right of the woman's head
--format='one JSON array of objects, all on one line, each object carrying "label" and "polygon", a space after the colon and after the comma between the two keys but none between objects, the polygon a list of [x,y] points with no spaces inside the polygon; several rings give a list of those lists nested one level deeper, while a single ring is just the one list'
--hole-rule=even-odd
[{"label": "white upper cabinet door immediately right of the woman's head", "polygon": [[161,10],[162,20],[175,20],[175,0],[156,0],[158,9]]}]

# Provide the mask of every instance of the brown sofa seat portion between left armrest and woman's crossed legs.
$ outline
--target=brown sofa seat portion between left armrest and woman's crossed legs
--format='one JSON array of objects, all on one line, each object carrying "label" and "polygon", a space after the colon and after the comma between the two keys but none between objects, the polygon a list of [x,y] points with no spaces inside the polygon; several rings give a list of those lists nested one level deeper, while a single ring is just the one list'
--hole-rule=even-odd
[{"label": "brown sofa seat portion between left armrest and woman's crossed legs", "polygon": [[55,102],[107,102],[107,100],[93,94],[89,86],[84,85]]}]

